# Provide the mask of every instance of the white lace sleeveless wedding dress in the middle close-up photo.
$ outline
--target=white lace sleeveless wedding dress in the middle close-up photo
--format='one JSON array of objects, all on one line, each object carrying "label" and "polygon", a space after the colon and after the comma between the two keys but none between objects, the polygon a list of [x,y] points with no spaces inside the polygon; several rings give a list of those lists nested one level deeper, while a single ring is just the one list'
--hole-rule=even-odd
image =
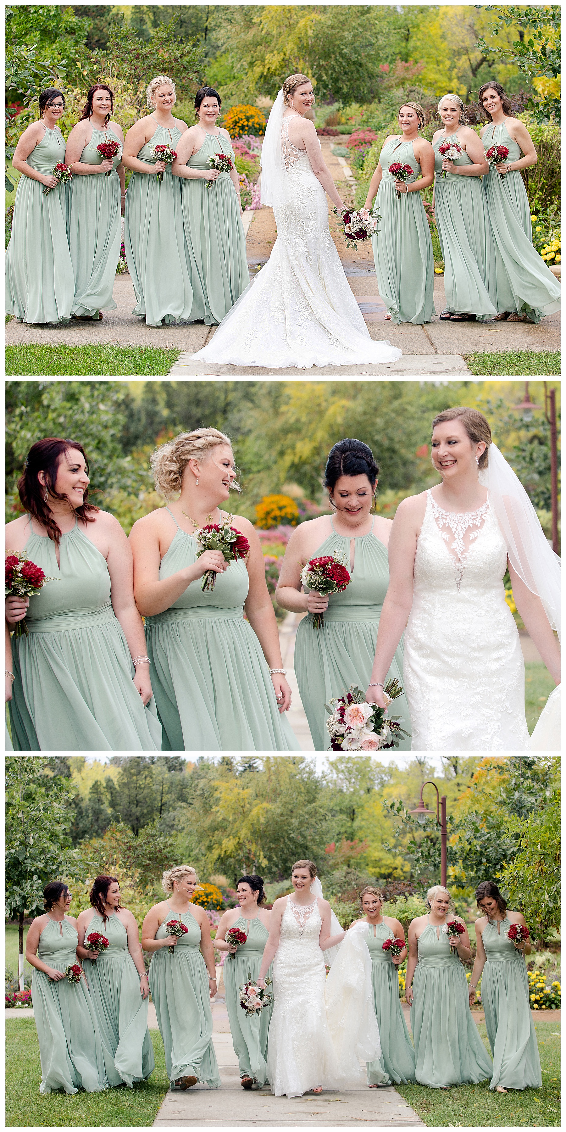
[{"label": "white lace sleeveless wedding dress in the middle close-up photo", "polygon": [[530,749],[506,566],[489,503],[456,514],[427,492],[403,663],[412,751]]}]

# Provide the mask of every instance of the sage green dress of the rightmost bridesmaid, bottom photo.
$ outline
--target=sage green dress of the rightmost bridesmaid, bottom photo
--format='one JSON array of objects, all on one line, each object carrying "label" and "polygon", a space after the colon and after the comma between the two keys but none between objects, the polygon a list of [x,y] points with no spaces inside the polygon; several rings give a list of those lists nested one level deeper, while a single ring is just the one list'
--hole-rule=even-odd
[{"label": "sage green dress of the rightmost bridesmaid, bottom photo", "polygon": [[[500,927],[500,933],[498,932]],[[531,1015],[524,954],[507,940],[511,920],[488,920],[482,932],[487,961],[481,976],[481,1005],[494,1055],[490,1089],[540,1089],[537,1031]]]}]

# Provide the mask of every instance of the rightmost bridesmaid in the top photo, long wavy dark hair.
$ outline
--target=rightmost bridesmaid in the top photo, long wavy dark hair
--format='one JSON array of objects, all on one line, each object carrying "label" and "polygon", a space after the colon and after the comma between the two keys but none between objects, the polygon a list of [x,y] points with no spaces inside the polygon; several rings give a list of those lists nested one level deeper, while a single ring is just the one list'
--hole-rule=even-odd
[{"label": "rightmost bridesmaid in the top photo, long wavy dark hair", "polygon": [[[532,243],[531,209],[520,170],[537,164],[526,126],[511,117],[511,101],[500,83],[484,83],[478,101],[488,125],[480,130],[483,148],[504,145],[508,160],[490,165],[483,191],[491,225],[498,318],[540,323],[560,309],[560,284]],[[523,156],[521,156],[523,154]]]}]

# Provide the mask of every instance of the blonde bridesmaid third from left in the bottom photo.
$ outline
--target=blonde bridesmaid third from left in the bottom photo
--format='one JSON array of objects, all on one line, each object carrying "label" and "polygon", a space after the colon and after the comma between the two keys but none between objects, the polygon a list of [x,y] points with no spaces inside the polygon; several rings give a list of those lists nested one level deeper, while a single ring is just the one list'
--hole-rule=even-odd
[{"label": "blonde bridesmaid third from left in the bottom photo", "polygon": [[[197,1081],[206,1081],[209,1089],[220,1089],[212,1038],[211,998],[216,994],[216,968],[211,925],[204,908],[191,903],[198,877],[190,865],[178,865],[163,873],[162,884],[171,895],[147,912],[142,946],[153,951],[149,988],[171,1088],[179,1084],[185,1091]],[[172,919],[185,924],[185,935],[168,935]],[[172,954],[169,947],[175,949]]]}]

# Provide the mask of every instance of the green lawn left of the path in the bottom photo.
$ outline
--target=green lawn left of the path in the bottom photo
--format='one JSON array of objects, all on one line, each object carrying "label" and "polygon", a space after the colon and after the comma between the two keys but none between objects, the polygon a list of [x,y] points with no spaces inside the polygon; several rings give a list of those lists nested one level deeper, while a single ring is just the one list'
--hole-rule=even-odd
[{"label": "green lawn left of the path in the bottom photo", "polygon": [[148,1081],[132,1089],[104,1092],[40,1094],[41,1065],[33,1018],[10,1018],[6,1023],[6,1124],[7,1126],[146,1127],[153,1124],[169,1089],[165,1055],[158,1030],[149,1030],[155,1069]]}]

